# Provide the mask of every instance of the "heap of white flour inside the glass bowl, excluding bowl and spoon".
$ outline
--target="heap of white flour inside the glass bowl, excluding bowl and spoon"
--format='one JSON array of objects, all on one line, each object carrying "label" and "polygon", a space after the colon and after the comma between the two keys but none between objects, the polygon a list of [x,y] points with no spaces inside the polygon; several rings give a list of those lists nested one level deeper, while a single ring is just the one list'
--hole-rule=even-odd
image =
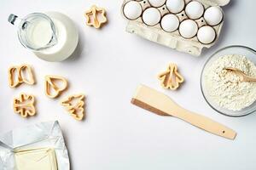
[{"label": "heap of white flour inside the glass bowl, excluding bowl and spoon", "polygon": [[226,67],[256,77],[256,66],[245,56],[233,54],[218,58],[206,70],[205,88],[210,98],[220,107],[240,111],[256,100],[256,83],[241,82],[236,73],[224,70]]}]

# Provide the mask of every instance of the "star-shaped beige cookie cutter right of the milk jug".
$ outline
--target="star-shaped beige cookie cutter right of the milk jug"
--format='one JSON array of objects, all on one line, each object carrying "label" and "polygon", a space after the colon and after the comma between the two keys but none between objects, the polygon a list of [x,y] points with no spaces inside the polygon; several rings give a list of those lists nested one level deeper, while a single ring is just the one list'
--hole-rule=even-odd
[{"label": "star-shaped beige cookie cutter right of the milk jug", "polygon": [[106,10],[104,8],[97,7],[96,5],[91,6],[91,8],[85,12],[86,25],[94,26],[95,28],[100,28],[102,24],[106,23]]}]

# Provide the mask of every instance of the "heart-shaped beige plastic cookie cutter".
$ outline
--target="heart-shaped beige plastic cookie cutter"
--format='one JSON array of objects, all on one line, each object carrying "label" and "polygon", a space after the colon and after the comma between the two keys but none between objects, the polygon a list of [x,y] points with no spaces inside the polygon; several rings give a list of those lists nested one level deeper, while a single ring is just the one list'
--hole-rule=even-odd
[{"label": "heart-shaped beige plastic cookie cutter", "polygon": [[[62,86],[60,86],[60,84],[56,84],[56,81],[60,81]],[[45,94],[52,99],[58,97],[64,90],[67,89],[67,80],[64,77],[52,75],[46,76],[44,83]]]}]

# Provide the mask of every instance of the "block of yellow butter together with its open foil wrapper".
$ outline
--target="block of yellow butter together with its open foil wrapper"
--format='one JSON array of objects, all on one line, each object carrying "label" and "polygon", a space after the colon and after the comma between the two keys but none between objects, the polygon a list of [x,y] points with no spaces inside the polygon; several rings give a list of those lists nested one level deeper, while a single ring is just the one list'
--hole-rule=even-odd
[{"label": "block of yellow butter together with its open foil wrapper", "polygon": [[0,136],[0,170],[69,170],[58,122],[41,122]]}]

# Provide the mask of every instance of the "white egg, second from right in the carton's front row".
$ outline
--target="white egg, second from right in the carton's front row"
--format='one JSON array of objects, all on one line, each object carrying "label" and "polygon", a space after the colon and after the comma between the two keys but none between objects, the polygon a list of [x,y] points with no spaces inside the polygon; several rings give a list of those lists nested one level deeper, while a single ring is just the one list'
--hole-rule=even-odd
[{"label": "white egg, second from right in the carton's front row", "polygon": [[194,20],[183,20],[179,25],[179,33],[182,37],[191,38],[196,35],[198,26]]}]

